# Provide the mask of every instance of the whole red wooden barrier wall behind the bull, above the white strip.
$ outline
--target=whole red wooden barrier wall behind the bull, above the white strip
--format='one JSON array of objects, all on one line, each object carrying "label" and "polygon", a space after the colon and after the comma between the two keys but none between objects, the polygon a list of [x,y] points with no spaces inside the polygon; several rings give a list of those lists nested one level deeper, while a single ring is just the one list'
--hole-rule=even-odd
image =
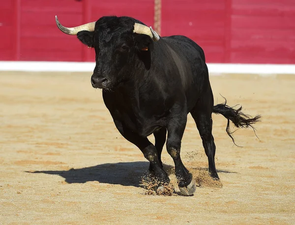
[{"label": "whole red wooden barrier wall behind the bull, above the white strip", "polygon": [[[162,0],[162,36],[182,34],[207,62],[295,63],[294,0]],[[67,27],[101,16],[131,16],[153,26],[154,0],[7,0],[0,4],[0,60],[94,61]]]}]

